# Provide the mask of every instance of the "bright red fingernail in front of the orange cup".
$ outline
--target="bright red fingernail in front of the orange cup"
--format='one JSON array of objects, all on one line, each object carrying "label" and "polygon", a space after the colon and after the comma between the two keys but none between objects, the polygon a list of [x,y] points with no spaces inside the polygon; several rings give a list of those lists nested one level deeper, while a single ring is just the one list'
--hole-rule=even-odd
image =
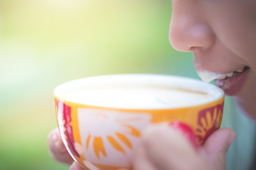
[{"label": "bright red fingernail in front of the orange cup", "polygon": [[195,134],[194,134],[192,128],[189,125],[184,124],[184,123],[179,122],[179,121],[174,121],[174,122],[170,123],[169,126],[171,126],[172,128],[177,129],[180,132],[182,132],[182,134],[184,134],[187,137],[187,139],[189,139],[189,141],[191,142],[193,147],[195,149],[198,148],[198,144],[195,140]]}]

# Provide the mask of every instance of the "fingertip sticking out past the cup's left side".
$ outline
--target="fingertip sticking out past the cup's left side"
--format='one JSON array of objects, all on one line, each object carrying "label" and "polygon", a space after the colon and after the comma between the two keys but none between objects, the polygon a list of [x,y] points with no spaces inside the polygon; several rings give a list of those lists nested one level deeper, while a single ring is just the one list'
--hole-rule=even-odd
[{"label": "fingertip sticking out past the cup's left side", "polygon": [[74,161],[70,154],[68,153],[63,141],[61,139],[61,135],[58,131],[58,128],[52,130],[47,137],[48,147],[50,155],[57,161],[72,164]]}]

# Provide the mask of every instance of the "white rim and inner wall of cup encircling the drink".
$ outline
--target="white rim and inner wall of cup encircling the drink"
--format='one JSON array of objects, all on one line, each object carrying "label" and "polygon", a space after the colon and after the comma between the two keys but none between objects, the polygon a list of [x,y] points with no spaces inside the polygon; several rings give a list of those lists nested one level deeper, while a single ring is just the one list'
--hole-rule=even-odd
[{"label": "white rim and inner wall of cup encircling the drink", "polygon": [[[154,81],[153,81],[153,80]],[[102,106],[99,104],[86,104],[84,102],[75,101],[68,99],[65,96],[69,91],[74,90],[74,88],[81,88],[83,86],[92,86],[93,84],[149,84],[157,86],[166,86],[166,87],[176,87],[179,89],[193,89],[191,91],[203,92],[208,95],[213,96],[213,99],[207,99],[204,102],[198,104],[186,104],[184,106],[170,106],[170,107],[141,107],[141,108],[132,108],[132,107],[118,107],[118,106]],[[224,91],[214,84],[209,84],[202,82],[198,79],[191,77],[177,76],[177,75],[163,75],[163,74],[110,74],[110,75],[97,75],[84,77],[80,79],[74,79],[69,82],[58,85],[54,89],[54,97],[62,101],[72,102],[76,104],[82,104],[86,106],[95,106],[103,108],[117,108],[117,109],[128,109],[128,110],[162,110],[162,109],[174,109],[174,108],[186,108],[194,106],[202,106],[204,104],[209,104],[215,102],[225,96]]]}]

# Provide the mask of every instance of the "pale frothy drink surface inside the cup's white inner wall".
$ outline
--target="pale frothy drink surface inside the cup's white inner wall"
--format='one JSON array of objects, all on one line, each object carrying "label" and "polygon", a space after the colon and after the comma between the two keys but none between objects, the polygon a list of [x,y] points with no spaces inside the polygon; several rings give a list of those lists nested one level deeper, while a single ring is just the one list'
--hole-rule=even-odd
[{"label": "pale frothy drink surface inside the cup's white inner wall", "polygon": [[76,89],[65,94],[72,102],[92,106],[155,109],[191,106],[214,99],[203,92],[163,86],[94,86]]}]

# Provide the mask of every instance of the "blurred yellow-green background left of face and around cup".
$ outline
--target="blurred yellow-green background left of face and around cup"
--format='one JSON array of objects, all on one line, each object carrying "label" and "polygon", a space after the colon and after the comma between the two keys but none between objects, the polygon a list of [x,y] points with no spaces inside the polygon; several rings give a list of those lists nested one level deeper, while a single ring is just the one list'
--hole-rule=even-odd
[{"label": "blurred yellow-green background left of face and around cup", "polygon": [[63,82],[116,73],[198,79],[192,54],[169,44],[170,19],[170,0],[0,0],[0,169],[69,169],[46,141]]}]

